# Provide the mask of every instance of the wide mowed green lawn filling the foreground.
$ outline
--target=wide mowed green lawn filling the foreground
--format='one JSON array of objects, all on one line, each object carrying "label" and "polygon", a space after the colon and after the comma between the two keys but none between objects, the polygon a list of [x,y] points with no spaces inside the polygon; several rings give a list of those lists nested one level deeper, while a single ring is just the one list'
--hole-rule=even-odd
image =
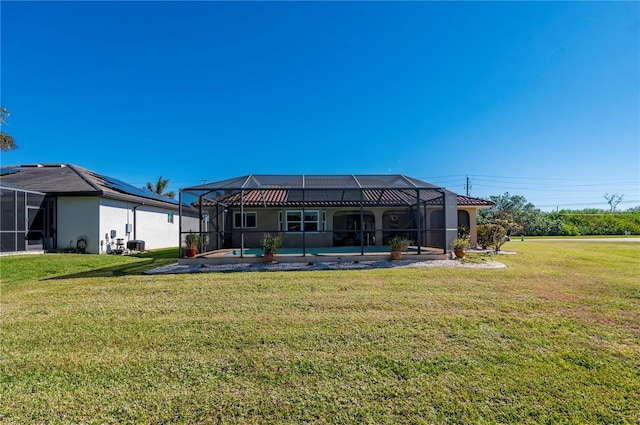
[{"label": "wide mowed green lawn filling the foreground", "polygon": [[2,258],[0,422],[637,424],[640,244],[504,249],[506,269],[173,276]]}]

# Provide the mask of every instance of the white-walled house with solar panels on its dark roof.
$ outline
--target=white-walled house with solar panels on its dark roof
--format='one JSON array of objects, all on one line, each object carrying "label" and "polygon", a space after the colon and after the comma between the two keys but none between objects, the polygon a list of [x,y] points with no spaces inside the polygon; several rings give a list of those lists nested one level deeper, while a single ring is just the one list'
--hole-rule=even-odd
[{"label": "white-walled house with solar panels on its dark roof", "polygon": [[145,249],[179,242],[178,201],[76,165],[2,167],[0,185],[3,253],[86,246],[98,254],[118,242],[144,241]]}]

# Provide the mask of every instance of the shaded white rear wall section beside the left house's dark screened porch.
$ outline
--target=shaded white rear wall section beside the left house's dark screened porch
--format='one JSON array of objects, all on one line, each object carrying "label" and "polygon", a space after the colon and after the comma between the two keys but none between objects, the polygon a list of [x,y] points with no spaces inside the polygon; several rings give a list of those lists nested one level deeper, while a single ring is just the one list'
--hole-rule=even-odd
[{"label": "shaded white rear wall section beside the left house's dark screened porch", "polygon": [[58,248],[75,248],[80,236],[87,237],[87,252],[100,252],[98,232],[100,198],[58,198],[58,225],[56,229]]}]

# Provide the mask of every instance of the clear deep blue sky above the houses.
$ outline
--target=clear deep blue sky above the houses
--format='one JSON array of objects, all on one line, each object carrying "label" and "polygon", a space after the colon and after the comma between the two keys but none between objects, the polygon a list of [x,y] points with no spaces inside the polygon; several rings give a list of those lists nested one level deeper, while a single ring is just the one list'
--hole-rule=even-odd
[{"label": "clear deep blue sky above the houses", "polygon": [[638,2],[0,3],[2,165],[640,204]]}]

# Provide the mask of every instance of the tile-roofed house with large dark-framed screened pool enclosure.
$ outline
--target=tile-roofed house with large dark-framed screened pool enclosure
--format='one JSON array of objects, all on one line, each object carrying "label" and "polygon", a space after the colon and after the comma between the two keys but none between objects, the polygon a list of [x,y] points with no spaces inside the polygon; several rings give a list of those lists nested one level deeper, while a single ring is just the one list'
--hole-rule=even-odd
[{"label": "tile-roofed house with large dark-framed screened pool enclosure", "polygon": [[396,235],[447,250],[459,225],[475,245],[476,212],[493,205],[404,175],[247,175],[182,189],[180,199],[198,209],[206,251],[256,248],[265,232],[303,250],[383,246]]}]

